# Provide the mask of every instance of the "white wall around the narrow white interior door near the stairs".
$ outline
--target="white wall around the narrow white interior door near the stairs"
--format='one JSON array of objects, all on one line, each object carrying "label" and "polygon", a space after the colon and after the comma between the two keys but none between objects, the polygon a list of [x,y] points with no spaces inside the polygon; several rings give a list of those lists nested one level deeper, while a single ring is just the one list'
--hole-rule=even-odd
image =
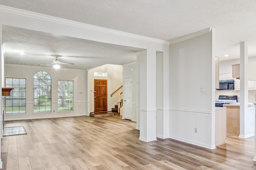
[{"label": "white wall around the narrow white interior door near the stairs", "polygon": [[[135,55],[135,54],[134,54]],[[123,65],[123,83],[124,79],[132,77],[132,121],[137,121],[136,102],[137,102],[137,63],[128,63]],[[124,89],[125,90],[125,89]],[[125,93],[123,93],[125,94]],[[123,107],[123,117],[125,118],[125,107]]]}]

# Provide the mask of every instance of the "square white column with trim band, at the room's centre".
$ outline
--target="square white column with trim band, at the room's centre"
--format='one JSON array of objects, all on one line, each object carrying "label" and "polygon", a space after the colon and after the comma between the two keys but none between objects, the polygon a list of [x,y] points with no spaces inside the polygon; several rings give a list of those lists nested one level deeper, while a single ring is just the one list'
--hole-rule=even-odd
[{"label": "square white column with trim band, at the room's centre", "polygon": [[140,52],[140,140],[156,140],[156,50]]}]

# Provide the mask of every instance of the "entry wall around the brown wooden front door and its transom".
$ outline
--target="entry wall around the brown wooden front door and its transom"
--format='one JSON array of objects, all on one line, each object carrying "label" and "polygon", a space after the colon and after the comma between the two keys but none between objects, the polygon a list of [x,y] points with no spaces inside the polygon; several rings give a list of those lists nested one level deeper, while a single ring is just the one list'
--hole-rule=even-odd
[{"label": "entry wall around the brown wooden front door and its transom", "polygon": [[[94,72],[104,72],[107,73],[107,77],[94,77]],[[118,101],[118,93],[122,91],[122,88],[118,90],[112,97],[111,93],[116,91],[123,84],[123,67],[122,65],[106,64],[94,69],[90,69],[90,112],[94,112],[94,79],[104,79],[108,80],[108,111],[111,111],[112,105]]]}]

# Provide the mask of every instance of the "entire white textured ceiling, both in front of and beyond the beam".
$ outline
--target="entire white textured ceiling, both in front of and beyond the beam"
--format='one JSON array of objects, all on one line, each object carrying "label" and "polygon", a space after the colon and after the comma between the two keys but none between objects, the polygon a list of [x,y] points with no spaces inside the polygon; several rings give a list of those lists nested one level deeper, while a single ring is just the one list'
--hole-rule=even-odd
[{"label": "entire white textured ceiling, both in front of and beyond the beam", "polygon": [[[214,52],[220,60],[239,58],[239,43],[244,41],[248,42],[249,57],[256,56],[255,0],[1,0],[0,5],[166,41],[215,28]],[[12,58],[9,50],[23,47],[25,55],[34,56],[38,64],[45,63],[46,58],[52,61],[51,55],[59,54],[61,61],[82,69],[85,66],[81,63],[89,61],[89,69],[106,61],[129,63],[135,61],[134,52],[140,50],[9,26],[3,27],[3,41],[6,63],[33,65],[31,57],[27,61]]]}]

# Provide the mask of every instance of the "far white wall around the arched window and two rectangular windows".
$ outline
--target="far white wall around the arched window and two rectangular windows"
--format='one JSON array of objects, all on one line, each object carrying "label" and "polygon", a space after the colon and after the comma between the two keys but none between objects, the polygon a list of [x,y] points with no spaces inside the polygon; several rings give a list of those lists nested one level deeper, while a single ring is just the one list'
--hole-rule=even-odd
[{"label": "far white wall around the arched window and two rectangular windows", "polygon": [[[52,112],[33,113],[33,77],[38,71],[46,71],[52,77]],[[59,80],[74,81],[74,111],[58,112],[58,75],[52,67],[39,67],[27,65],[5,64],[5,77],[26,79],[26,114],[5,115],[4,120],[39,119],[50,117],[69,117],[88,115],[86,93],[87,93],[87,71],[78,69],[60,68]],[[81,94],[82,93],[82,94]]]}]

